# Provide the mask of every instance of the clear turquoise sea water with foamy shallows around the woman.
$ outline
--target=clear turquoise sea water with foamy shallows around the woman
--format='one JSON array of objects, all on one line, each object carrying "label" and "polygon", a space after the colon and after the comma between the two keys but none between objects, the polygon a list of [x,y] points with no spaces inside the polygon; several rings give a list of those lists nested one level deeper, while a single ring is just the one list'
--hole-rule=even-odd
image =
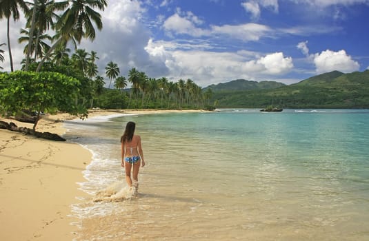
[{"label": "clear turquoise sea water with foamy shallows around the woman", "polygon": [[[114,116],[110,116],[114,117]],[[124,189],[119,138],[137,123],[147,166]],[[92,151],[76,240],[369,240],[369,110],[219,109],[70,121]]]}]

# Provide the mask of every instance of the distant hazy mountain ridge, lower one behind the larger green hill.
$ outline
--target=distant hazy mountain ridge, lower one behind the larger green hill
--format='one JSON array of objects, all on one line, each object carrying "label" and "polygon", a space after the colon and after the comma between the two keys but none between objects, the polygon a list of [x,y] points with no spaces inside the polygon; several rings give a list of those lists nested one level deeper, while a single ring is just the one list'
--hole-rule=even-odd
[{"label": "distant hazy mountain ridge, lower one behind the larger green hill", "polygon": [[235,81],[229,81],[227,83],[219,83],[217,85],[209,85],[204,90],[211,89],[212,92],[222,91],[242,91],[242,90],[268,90],[275,89],[277,87],[285,86],[283,83],[275,81],[246,81],[244,79],[237,79]]}]

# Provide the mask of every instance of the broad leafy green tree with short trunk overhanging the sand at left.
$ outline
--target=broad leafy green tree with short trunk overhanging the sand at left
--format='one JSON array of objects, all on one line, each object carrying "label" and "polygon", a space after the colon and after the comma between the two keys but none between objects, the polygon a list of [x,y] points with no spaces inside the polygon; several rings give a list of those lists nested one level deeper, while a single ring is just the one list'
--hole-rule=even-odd
[{"label": "broad leafy green tree with short trunk overhanging the sand at left", "polygon": [[[76,79],[56,72],[23,72],[16,71],[0,74],[0,106],[1,111],[8,114],[28,109],[37,113],[33,129],[36,129],[42,112],[54,113],[58,109],[72,114],[87,110],[78,105],[80,97]],[[4,87],[6,86],[6,87]]]}]

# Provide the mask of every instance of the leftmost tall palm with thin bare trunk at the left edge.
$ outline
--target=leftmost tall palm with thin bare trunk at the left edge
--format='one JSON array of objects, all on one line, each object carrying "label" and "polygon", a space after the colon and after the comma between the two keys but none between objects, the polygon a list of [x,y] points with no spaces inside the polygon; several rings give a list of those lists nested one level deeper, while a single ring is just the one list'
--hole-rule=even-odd
[{"label": "leftmost tall palm with thin bare trunk at the left edge", "polygon": [[13,58],[12,58],[12,48],[10,48],[10,17],[13,17],[14,21],[19,19],[20,14],[18,7],[20,7],[24,12],[28,10],[26,3],[23,0],[1,0],[0,1],[0,19],[5,17],[8,19],[7,22],[7,38],[8,38],[8,50],[9,50],[9,60],[10,60],[10,70],[13,72]]}]

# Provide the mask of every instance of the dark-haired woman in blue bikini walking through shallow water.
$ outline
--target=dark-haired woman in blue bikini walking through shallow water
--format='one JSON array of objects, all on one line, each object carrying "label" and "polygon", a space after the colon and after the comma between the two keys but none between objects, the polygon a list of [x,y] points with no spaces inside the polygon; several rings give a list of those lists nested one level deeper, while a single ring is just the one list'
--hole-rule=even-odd
[{"label": "dark-haired woman in blue bikini walking through shallow water", "polygon": [[[136,124],[132,121],[128,122],[123,136],[121,136],[121,166],[126,169],[126,182],[129,187],[135,188],[135,192],[139,189],[139,166],[145,166],[143,160],[143,151],[141,147],[141,137],[134,135]],[[131,167],[133,165],[133,183],[130,177]]]}]

